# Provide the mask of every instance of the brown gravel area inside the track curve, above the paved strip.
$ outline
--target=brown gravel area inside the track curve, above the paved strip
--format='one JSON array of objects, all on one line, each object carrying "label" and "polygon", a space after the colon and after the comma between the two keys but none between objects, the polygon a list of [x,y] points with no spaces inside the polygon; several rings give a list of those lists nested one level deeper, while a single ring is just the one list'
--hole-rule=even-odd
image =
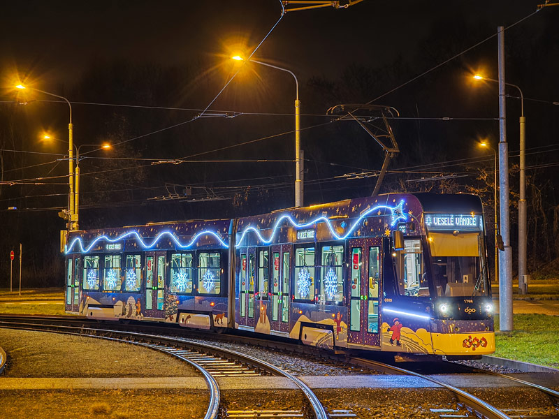
[{"label": "brown gravel area inside the track curve, above the paved strip", "polygon": [[3,376],[13,378],[200,375],[152,349],[90,337],[0,329],[0,346],[8,355]]}]

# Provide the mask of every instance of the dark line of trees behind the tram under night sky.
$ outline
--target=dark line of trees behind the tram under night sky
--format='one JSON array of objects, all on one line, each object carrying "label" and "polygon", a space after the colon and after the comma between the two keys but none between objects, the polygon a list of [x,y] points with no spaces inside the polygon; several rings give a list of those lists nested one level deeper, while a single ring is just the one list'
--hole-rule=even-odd
[{"label": "dark line of trees behind the tram under night sky", "polygon": [[[558,168],[554,166],[559,152],[559,108],[551,104],[559,100],[559,88],[555,82],[546,82],[554,80],[559,65],[559,33],[551,17],[511,29],[506,39],[507,82],[521,86],[525,98],[543,101],[525,100],[531,272],[553,266],[559,257]],[[337,78],[317,71],[300,79],[301,126],[308,128],[301,134],[305,205],[370,195],[375,176],[351,179],[343,175],[375,172],[384,158],[379,145],[358,124],[331,122],[321,116],[328,108],[368,103],[465,50],[479,41],[479,34],[494,31],[488,25],[471,27],[453,17],[433,25],[428,36],[419,41],[414,57],[396,56],[393,62],[379,66],[364,64],[365,60],[356,57],[354,64],[340,68]],[[482,68],[488,77],[496,78],[496,43],[494,38],[375,101],[393,106],[401,117],[390,120],[400,154],[392,161],[394,172],[387,175],[381,192],[479,194],[486,205],[491,265],[493,154],[477,147],[477,142],[486,138],[497,147],[498,89],[489,82],[474,84],[471,75]],[[109,151],[92,152],[94,147],[88,146],[80,150],[81,228],[225,218],[293,205],[294,89],[290,75],[262,67],[245,68],[210,108],[209,115],[222,116],[196,118],[235,71],[233,64],[216,64],[208,57],[174,66],[96,59],[79,82],[50,89],[74,102],[77,145],[105,141],[115,145]],[[511,152],[511,241],[516,259],[520,101],[514,89],[507,89],[507,94],[512,96],[507,98],[507,138]],[[39,138],[44,130],[67,139],[67,105],[33,101],[29,93],[20,94],[18,100],[27,104],[0,105],[1,180],[21,181],[0,186],[0,287],[9,286],[8,255],[20,242],[24,249],[23,286],[61,286],[64,264],[58,252],[59,230],[65,228],[65,221],[57,212],[68,205],[67,145]],[[224,117],[224,111],[275,115],[231,117],[229,113],[230,117]],[[474,119],[421,119],[441,117]],[[170,126],[175,127],[145,135]],[[379,126],[378,121],[372,126]],[[253,142],[231,147],[249,141]],[[208,153],[212,150],[217,151]],[[484,159],[474,159],[481,157]],[[198,162],[161,163],[166,159]],[[53,176],[58,177],[37,179]],[[8,207],[18,210],[8,211]],[[14,272],[17,277],[17,269]]]}]

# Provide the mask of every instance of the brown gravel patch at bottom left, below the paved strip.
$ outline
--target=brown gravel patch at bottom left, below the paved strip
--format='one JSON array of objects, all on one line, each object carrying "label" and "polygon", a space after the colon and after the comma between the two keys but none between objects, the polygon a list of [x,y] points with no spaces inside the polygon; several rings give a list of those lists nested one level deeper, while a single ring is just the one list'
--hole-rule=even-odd
[{"label": "brown gravel patch at bottom left, below the paved strip", "polygon": [[189,390],[3,391],[0,419],[199,419],[208,392]]}]

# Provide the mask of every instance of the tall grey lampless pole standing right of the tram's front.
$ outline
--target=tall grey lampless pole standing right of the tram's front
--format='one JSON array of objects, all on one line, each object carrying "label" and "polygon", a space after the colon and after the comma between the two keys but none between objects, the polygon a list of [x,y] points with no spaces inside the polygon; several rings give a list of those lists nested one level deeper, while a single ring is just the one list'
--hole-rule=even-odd
[{"label": "tall grey lampless pole standing right of the tram's front", "polygon": [[509,208],[509,145],[504,94],[504,27],[498,27],[499,61],[499,184],[500,225],[504,251],[499,258],[499,324],[501,331],[513,329],[512,318],[512,248]]}]

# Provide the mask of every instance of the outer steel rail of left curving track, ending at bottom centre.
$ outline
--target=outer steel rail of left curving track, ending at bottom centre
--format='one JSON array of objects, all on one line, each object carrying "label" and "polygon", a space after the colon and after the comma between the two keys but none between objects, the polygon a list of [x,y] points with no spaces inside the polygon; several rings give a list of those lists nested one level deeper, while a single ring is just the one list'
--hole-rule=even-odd
[{"label": "outer steel rail of left curving track, ending at bottom centre", "polygon": [[[213,346],[213,345],[209,345],[209,344],[201,344],[195,341],[191,341],[191,340],[187,340],[187,339],[180,339],[180,338],[174,338],[174,337],[164,337],[161,335],[148,335],[145,333],[138,333],[138,332],[129,332],[129,331],[124,331],[124,330],[106,330],[106,329],[98,329],[98,328],[85,328],[84,326],[87,325],[86,322],[82,322],[81,326],[72,326],[72,325],[42,325],[42,324],[36,324],[36,323],[29,323],[29,320],[41,320],[39,319],[33,319],[33,318],[26,318],[26,317],[18,317],[18,320],[23,320],[25,321],[24,323],[8,323],[6,321],[4,321],[2,318],[0,318],[0,327],[10,327],[10,325],[13,325],[17,328],[27,328],[29,325],[34,325],[38,328],[40,328],[41,330],[50,330],[49,328],[55,328],[57,330],[68,330],[68,331],[64,331],[62,333],[68,333],[68,334],[73,334],[73,335],[86,335],[88,337],[102,337],[99,335],[92,335],[89,332],[93,332],[93,333],[103,333],[103,334],[107,334],[107,335],[120,335],[120,336],[129,336],[129,337],[135,337],[136,339],[145,339],[145,340],[157,340],[159,342],[166,342],[169,344],[179,344],[181,346],[190,346],[191,348],[198,348],[198,349],[203,349],[205,351],[208,352],[212,352],[212,353],[218,353],[222,356],[224,356],[224,358],[231,358],[231,359],[235,359],[238,360],[240,362],[243,363],[247,363],[250,364],[258,369],[262,369],[263,371],[266,371],[270,374],[275,374],[275,375],[279,375],[279,376],[284,376],[286,378],[289,378],[290,381],[293,381],[293,383],[295,383],[298,388],[303,391],[303,393],[305,394],[305,397],[307,398],[307,400],[310,403],[310,406],[312,408],[312,411],[314,412],[314,416],[317,419],[328,419],[328,414],[326,413],[326,410],[324,409],[324,406],[322,406],[321,402],[319,401],[319,398],[317,397],[317,395],[314,394],[314,392],[312,392],[312,390],[310,389],[310,387],[308,385],[306,385],[303,381],[301,381],[299,378],[297,378],[296,376],[293,376],[292,374],[289,374],[288,372],[284,371],[283,369],[276,367],[275,365],[272,365],[266,361],[263,360],[259,360],[257,358],[254,358],[252,356],[249,355],[245,355],[243,353],[237,352],[237,351],[232,351],[230,349],[226,349],[226,348],[219,348],[218,346]],[[47,319],[45,319],[47,320]],[[48,320],[51,321],[56,321],[57,318],[49,318]],[[61,320],[66,320],[66,319],[61,319]],[[69,322],[68,322],[69,323]],[[78,332],[69,332],[69,330],[75,330],[78,329]],[[52,331],[52,330],[51,330]],[[103,337],[105,339],[115,339],[118,340],[114,337]],[[127,341],[128,342],[128,341]],[[129,342],[129,343],[133,343],[133,344],[141,344],[140,342]],[[146,345],[147,346],[147,345]],[[147,346],[150,347],[150,346]],[[208,373],[209,374],[209,373]],[[216,384],[217,385],[217,384]]]}]

